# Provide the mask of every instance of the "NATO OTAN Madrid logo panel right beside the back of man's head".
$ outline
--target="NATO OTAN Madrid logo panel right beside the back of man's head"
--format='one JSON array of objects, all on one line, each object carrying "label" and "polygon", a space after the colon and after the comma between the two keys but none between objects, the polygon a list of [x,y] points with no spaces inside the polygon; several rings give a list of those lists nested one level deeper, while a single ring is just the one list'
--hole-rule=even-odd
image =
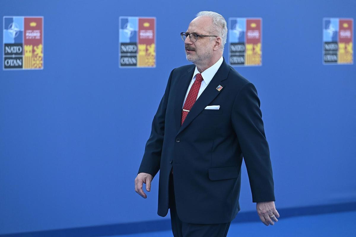
[{"label": "NATO OTAN Madrid logo panel right beside the back of man's head", "polygon": [[229,18],[229,62],[262,65],[262,18]]}]

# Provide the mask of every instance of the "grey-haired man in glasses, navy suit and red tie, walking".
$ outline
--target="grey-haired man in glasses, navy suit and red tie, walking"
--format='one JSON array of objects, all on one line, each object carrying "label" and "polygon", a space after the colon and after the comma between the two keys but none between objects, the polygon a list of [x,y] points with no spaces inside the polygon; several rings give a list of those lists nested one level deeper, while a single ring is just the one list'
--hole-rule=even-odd
[{"label": "grey-haired man in glasses, navy suit and red tie, walking", "polygon": [[135,190],[159,173],[158,215],[171,210],[174,236],[226,236],[240,211],[245,160],[252,201],[265,225],[279,214],[255,86],[223,58],[224,17],[203,11],[181,33],[187,65],[172,70],[152,122]]}]

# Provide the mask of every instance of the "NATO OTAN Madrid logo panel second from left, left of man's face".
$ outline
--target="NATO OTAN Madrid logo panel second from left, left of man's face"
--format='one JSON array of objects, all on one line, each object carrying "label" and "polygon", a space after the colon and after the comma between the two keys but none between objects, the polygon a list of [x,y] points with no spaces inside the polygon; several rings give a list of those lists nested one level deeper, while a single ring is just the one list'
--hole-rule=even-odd
[{"label": "NATO OTAN Madrid logo panel second from left, left of man's face", "polygon": [[120,17],[120,68],[156,67],[156,18]]}]

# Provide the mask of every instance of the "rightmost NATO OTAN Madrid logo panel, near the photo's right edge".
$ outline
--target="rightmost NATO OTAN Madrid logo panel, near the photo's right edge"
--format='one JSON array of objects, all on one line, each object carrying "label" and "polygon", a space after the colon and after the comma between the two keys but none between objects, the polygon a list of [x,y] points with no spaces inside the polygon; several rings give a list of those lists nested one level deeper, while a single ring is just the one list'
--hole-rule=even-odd
[{"label": "rightmost NATO OTAN Madrid logo panel, near the photo's right edge", "polygon": [[353,64],[352,18],[323,19],[323,64]]}]

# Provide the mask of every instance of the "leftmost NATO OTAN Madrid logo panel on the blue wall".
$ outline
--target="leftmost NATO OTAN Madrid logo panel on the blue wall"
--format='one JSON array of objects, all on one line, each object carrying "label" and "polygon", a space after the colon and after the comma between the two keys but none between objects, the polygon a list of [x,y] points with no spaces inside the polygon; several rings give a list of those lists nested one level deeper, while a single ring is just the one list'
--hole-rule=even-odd
[{"label": "leftmost NATO OTAN Madrid logo panel on the blue wall", "polygon": [[43,69],[43,17],[4,16],[4,70]]}]

